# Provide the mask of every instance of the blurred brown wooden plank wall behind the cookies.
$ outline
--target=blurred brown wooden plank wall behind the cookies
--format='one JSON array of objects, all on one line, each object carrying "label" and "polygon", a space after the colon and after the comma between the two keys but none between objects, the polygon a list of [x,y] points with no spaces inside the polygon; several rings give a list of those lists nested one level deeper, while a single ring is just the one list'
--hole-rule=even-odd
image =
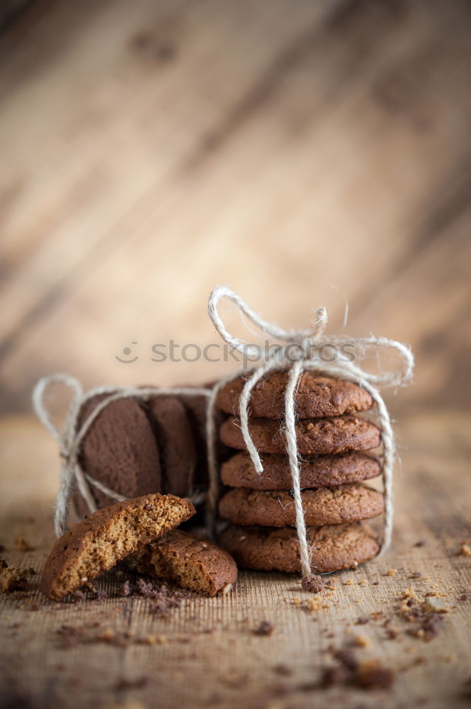
[{"label": "blurred brown wooden plank wall behind the cookies", "polygon": [[[4,411],[57,370],[88,387],[234,367],[150,361],[154,342],[215,341],[217,283],[286,327],[324,303],[338,330],[348,298],[346,332],[414,347],[393,406],[465,407],[470,16],[460,0],[30,4],[0,38]],[[140,359],[120,364],[128,346]]]}]

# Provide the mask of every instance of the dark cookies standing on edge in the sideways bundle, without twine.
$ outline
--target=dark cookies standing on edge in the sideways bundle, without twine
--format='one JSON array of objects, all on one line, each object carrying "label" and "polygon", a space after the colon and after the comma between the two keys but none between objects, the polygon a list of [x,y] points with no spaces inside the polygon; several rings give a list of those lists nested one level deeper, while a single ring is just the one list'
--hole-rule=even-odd
[{"label": "dark cookies standing on edge in the sideways bundle, without twine", "polygon": [[[78,428],[108,396],[93,396],[84,403]],[[171,493],[191,496],[195,506],[202,507],[208,487],[205,407],[206,397],[199,394],[113,401],[86,432],[81,467],[126,498]],[[89,487],[98,509],[113,504],[106,493],[93,484]],[[78,490],[73,499],[79,515],[89,514]]]}]

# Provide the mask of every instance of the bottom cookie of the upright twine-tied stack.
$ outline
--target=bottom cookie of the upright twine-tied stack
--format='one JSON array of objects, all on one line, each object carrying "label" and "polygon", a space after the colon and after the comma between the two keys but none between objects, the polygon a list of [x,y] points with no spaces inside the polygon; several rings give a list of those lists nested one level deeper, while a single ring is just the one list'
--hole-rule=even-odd
[{"label": "bottom cookie of the upright twine-tied stack", "polygon": [[[378,554],[375,533],[368,524],[307,527],[311,568],[315,573],[351,569]],[[292,527],[227,527],[221,545],[239,566],[261,571],[301,571],[300,543]]]}]

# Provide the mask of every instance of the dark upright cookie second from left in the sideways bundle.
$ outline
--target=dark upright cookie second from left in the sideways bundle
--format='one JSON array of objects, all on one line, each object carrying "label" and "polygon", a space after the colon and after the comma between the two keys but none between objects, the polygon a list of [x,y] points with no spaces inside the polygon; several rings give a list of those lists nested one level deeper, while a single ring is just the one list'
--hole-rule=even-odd
[{"label": "dark upright cookie second from left in the sideways bundle", "polygon": [[186,408],[177,396],[154,396],[148,411],[157,436],[164,491],[188,495],[193,490],[196,447]]}]

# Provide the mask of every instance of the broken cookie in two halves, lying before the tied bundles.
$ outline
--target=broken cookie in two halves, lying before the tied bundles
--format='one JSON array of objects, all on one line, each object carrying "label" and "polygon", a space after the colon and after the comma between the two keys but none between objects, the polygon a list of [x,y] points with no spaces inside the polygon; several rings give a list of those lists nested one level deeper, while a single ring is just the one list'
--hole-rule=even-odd
[{"label": "broken cookie in two halves, lying before the tied bundles", "polygon": [[194,513],[189,500],[159,493],[97,510],[55,542],[40,591],[61,601],[123,561],[137,574],[205,596],[227,593],[237,579],[234,559],[209,540],[176,528]]}]

